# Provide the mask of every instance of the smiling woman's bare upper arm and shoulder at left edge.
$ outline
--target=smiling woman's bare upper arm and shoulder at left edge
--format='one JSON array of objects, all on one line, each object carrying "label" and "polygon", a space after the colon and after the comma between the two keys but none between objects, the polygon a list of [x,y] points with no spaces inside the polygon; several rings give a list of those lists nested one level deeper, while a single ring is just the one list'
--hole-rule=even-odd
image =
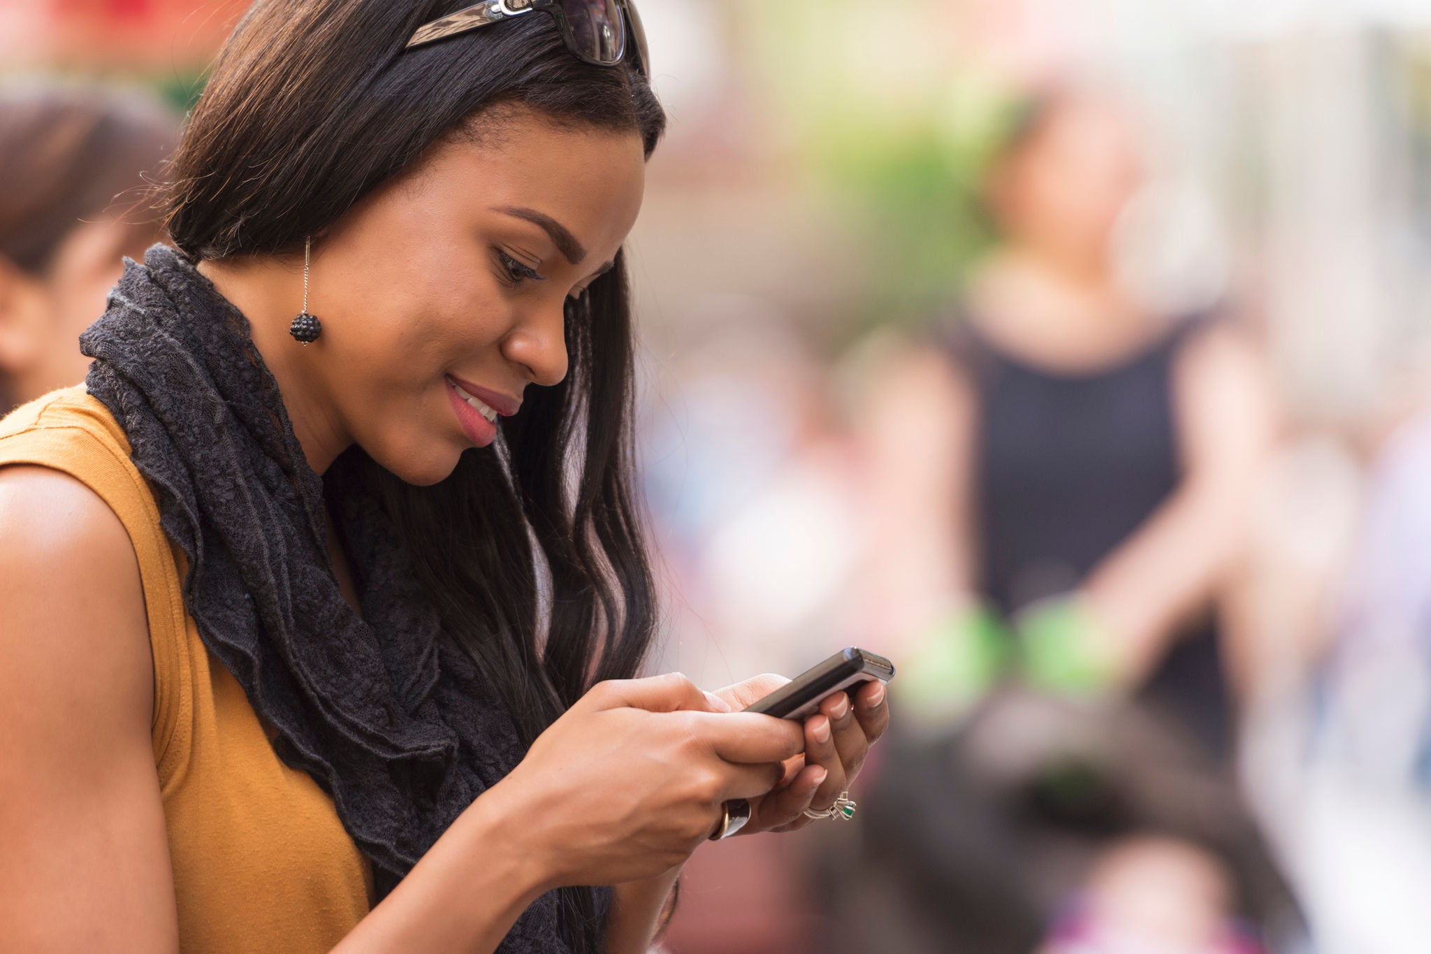
[{"label": "smiling woman's bare upper arm and shoulder at left edge", "polygon": [[0,947],[179,950],[129,535],[79,481],[0,469]]}]

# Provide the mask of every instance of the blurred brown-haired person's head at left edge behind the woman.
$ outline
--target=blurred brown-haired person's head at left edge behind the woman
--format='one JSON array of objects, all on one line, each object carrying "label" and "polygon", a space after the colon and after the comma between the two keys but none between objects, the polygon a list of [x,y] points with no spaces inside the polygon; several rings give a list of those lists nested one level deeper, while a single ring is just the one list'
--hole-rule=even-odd
[{"label": "blurred brown-haired person's head at left edge behind the woman", "polygon": [[160,239],[140,207],[177,120],[146,97],[0,87],[0,413],[79,383],[79,336],[123,257]]}]

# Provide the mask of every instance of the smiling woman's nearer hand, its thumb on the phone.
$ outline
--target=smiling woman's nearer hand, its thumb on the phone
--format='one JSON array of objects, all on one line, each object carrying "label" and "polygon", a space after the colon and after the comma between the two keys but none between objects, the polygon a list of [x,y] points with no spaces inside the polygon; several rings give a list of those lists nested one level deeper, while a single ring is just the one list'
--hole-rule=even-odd
[{"label": "smiling woman's nearer hand, its thumb on the phone", "polygon": [[602,682],[478,801],[507,804],[545,888],[637,881],[684,862],[724,801],[756,804],[804,748],[800,725],[730,712],[680,674]]}]

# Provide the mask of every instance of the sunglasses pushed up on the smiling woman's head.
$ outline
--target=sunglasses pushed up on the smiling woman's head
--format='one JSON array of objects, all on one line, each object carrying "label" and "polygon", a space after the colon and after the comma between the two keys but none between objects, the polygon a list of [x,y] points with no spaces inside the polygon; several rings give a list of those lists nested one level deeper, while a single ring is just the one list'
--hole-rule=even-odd
[{"label": "sunglasses pushed up on the smiling woman's head", "polygon": [[641,76],[650,77],[645,30],[631,0],[485,0],[424,24],[405,49],[537,11],[557,20],[561,39],[577,59],[595,66],[630,59]]}]

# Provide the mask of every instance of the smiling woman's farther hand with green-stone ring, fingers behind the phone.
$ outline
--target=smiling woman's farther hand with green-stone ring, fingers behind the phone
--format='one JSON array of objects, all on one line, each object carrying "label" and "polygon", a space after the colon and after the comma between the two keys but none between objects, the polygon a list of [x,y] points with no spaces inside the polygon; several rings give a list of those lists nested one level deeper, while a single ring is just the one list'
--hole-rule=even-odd
[{"label": "smiling woman's farther hand with green-stone ring, fingers behind the phone", "polygon": [[[717,689],[716,695],[731,709],[743,709],[787,682],[790,679],[780,675],[757,675]],[[850,788],[870,745],[884,735],[889,724],[889,704],[880,682],[869,682],[851,694],[836,692],[821,702],[820,711],[804,722],[804,754],[786,764],[778,788],[748,798],[750,821],[740,834],[796,831],[810,824],[804,810],[829,808]]]}]

